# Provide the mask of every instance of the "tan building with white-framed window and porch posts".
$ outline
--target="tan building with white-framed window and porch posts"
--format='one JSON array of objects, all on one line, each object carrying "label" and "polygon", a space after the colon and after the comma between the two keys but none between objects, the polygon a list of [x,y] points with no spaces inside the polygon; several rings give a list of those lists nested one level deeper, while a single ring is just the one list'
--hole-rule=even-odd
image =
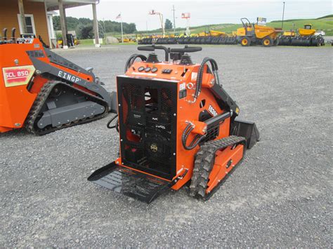
[{"label": "tan building with white-framed window and porch posts", "polygon": [[93,27],[98,43],[98,25],[96,4],[99,0],[6,0],[0,3],[0,29],[16,29],[16,36],[35,34],[41,36],[44,43],[51,48],[55,46],[55,33],[52,16],[59,11],[63,34],[63,47],[67,48],[66,9],[91,4]]}]

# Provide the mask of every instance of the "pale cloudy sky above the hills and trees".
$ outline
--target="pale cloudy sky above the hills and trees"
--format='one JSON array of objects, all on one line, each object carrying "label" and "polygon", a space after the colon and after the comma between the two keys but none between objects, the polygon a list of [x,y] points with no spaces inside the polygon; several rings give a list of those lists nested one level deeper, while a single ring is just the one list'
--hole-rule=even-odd
[{"label": "pale cloudy sky above the hills and trees", "polygon": [[[176,27],[185,27],[181,13],[191,13],[190,25],[209,25],[218,23],[239,23],[240,18],[247,17],[254,21],[256,17],[267,21],[282,19],[283,1],[113,1],[100,0],[98,19],[116,20],[122,13],[123,22],[134,22],[138,30],[157,29],[160,27],[157,15],[148,15],[152,9],[163,14],[164,20],[173,21],[172,6],[175,6]],[[318,18],[332,14],[332,1],[288,1],[285,0],[285,19]],[[92,18],[91,6],[68,8],[67,16],[75,18]],[[117,19],[116,21],[119,21]]]}]

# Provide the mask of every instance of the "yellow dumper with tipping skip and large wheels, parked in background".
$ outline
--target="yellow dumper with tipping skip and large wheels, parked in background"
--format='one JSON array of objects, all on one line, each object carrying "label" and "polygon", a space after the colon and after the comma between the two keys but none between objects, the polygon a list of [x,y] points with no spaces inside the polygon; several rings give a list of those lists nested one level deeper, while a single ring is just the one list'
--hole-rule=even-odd
[{"label": "yellow dumper with tipping skip and large wheels, parked in background", "polygon": [[251,23],[247,18],[241,18],[243,27],[237,29],[237,41],[242,46],[259,45],[265,47],[277,46],[278,35],[282,32],[280,28],[268,27]]}]

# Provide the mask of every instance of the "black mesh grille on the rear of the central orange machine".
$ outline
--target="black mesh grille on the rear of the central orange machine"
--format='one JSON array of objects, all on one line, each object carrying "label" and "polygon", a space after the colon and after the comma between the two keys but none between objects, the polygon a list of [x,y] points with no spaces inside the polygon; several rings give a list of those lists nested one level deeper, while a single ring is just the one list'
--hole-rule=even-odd
[{"label": "black mesh grille on the rear of the central orange machine", "polygon": [[122,137],[125,164],[171,174],[172,146],[175,146],[171,138],[175,133],[171,126],[172,110],[169,88],[143,83],[122,86],[124,123],[120,129],[126,130]]}]

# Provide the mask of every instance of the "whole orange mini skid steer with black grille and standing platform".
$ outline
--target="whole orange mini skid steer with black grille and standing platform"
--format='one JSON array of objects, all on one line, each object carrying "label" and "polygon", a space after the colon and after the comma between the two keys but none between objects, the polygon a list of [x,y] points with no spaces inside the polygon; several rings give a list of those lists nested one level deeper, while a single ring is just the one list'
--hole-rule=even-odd
[{"label": "whole orange mini skid steer with black grille and standing platform", "polygon": [[[164,61],[155,49],[165,51]],[[119,130],[119,158],[88,180],[147,203],[190,183],[190,195],[207,200],[259,141],[256,125],[236,119],[240,109],[223,90],[215,60],[192,62],[188,53],[202,48],[138,50],[152,53],[132,55],[117,76],[111,127]]]}]

